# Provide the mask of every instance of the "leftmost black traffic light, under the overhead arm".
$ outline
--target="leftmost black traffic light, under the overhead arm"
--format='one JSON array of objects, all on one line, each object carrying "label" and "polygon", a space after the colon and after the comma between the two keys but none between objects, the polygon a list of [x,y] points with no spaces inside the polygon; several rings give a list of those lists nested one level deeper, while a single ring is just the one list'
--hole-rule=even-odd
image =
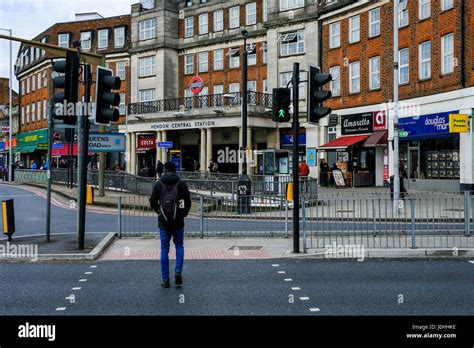
[{"label": "leftmost black traffic light, under the overhead arm", "polygon": [[[79,58],[74,52],[67,52],[65,60],[52,63],[53,88],[63,91],[53,94],[53,117],[63,120],[65,124],[74,125],[77,122],[76,103],[79,79]],[[71,104],[74,107],[71,107]]]}]

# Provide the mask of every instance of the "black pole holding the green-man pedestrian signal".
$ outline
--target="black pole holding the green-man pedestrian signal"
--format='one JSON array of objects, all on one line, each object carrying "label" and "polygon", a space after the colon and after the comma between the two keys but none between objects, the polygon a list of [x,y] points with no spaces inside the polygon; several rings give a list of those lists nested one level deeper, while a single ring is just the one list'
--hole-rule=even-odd
[{"label": "black pole holding the green-man pedestrian signal", "polygon": [[300,64],[293,64],[293,253],[300,252],[299,84]]}]

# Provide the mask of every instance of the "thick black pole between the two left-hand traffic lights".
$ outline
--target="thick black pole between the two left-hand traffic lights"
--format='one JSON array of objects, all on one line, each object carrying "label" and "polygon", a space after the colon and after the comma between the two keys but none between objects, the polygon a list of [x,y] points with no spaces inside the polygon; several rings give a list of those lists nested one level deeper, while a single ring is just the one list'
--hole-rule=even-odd
[{"label": "thick black pole between the two left-hand traffic lights", "polygon": [[[92,72],[89,64],[84,65],[84,102],[91,101]],[[85,108],[89,110],[89,108]],[[86,190],[87,190],[87,155],[89,153],[89,114],[78,115],[78,150],[79,161],[77,168],[78,213],[77,213],[77,243],[79,250],[84,250],[86,230]]]}]

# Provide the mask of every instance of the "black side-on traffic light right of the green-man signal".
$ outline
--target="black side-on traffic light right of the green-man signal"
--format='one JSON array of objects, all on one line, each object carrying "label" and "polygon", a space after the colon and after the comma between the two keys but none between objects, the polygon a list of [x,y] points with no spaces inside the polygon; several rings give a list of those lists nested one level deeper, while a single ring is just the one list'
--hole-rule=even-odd
[{"label": "black side-on traffic light right of the green-man signal", "polygon": [[331,113],[331,108],[323,106],[323,102],[331,98],[331,91],[323,91],[323,86],[332,81],[331,74],[321,74],[314,65],[309,67],[308,80],[308,122],[317,123]]}]

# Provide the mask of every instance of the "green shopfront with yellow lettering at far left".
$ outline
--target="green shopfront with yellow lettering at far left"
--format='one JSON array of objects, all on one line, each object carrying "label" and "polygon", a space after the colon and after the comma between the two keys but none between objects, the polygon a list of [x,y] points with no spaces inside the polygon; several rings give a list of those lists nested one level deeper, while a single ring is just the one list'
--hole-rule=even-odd
[{"label": "green shopfront with yellow lettering at far left", "polygon": [[36,163],[36,168],[46,162],[48,152],[48,130],[20,133],[17,136],[17,147],[15,149],[16,160],[25,168],[31,168]]}]

